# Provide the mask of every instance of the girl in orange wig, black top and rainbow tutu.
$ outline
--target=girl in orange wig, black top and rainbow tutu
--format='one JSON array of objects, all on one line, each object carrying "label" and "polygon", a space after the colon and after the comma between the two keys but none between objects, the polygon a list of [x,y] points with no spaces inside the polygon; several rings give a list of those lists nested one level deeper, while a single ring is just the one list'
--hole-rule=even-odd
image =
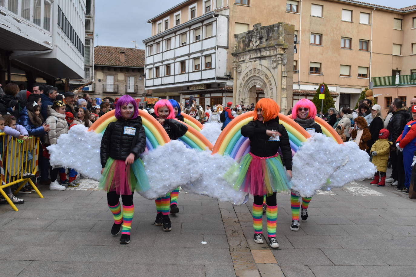
[{"label": "girl in orange wig, black top and rainbow tutu", "polygon": [[[263,98],[255,105],[253,121],[241,128],[241,134],[250,139],[250,152],[240,162],[240,174],[235,188],[253,194],[253,227],[255,243],[263,243],[262,208],[266,194],[267,235],[270,247],[277,248],[276,240],[277,200],[276,191],[290,188],[286,176],[292,177],[292,151],[289,136],[279,124],[279,106],[270,98]],[[282,151],[286,170],[277,150]]]}]

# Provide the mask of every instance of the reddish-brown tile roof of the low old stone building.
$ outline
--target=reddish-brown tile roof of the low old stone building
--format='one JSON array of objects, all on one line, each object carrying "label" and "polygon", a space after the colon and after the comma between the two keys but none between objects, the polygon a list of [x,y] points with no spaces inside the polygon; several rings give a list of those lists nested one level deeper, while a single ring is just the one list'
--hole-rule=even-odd
[{"label": "reddish-brown tile roof of the low old stone building", "polygon": [[[124,52],[124,62],[120,61]],[[114,46],[94,47],[94,64],[105,66],[144,67],[145,50]]]}]

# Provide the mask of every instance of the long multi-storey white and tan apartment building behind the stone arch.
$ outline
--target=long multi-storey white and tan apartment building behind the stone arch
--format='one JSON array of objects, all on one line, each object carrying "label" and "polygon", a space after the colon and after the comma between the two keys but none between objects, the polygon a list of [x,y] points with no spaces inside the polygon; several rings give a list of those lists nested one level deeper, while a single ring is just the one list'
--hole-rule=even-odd
[{"label": "long multi-storey white and tan apartment building behind the stone arch", "polygon": [[[312,98],[319,83],[327,83],[336,108],[354,106],[372,77],[391,80],[397,71],[413,72],[415,17],[416,6],[394,9],[351,0],[184,1],[148,21],[152,37],[144,40],[146,90],[181,101],[192,93],[212,103],[210,90],[232,86],[234,34],[257,23],[286,22],[295,26],[290,103]],[[208,46],[204,30],[210,22],[216,25],[215,45],[212,39]],[[215,72],[210,78],[203,75],[206,54],[211,55],[209,70]],[[167,64],[174,68],[170,75]],[[262,97],[261,90],[258,95]],[[222,96],[222,103],[230,98],[225,92]]]}]

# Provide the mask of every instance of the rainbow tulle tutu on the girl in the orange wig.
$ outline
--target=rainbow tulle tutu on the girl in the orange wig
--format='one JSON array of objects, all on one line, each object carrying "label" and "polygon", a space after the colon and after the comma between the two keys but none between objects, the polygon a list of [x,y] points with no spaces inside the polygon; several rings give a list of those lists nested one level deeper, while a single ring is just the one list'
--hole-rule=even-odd
[{"label": "rainbow tulle tutu on the girl in the orange wig", "polygon": [[250,152],[241,159],[235,189],[252,195],[265,195],[285,191],[290,187],[279,154],[258,157]]}]

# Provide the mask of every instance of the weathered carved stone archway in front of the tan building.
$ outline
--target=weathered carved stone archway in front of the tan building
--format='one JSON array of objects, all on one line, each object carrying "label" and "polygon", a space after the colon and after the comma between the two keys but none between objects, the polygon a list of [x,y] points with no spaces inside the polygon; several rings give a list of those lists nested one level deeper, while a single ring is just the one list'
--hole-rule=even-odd
[{"label": "weathered carved stone archway in front of the tan building", "polygon": [[253,30],[234,35],[234,103],[248,104],[250,89],[256,86],[282,110],[290,107],[293,70],[289,65],[293,64],[293,33],[293,25],[277,23],[262,27],[258,23]]}]

